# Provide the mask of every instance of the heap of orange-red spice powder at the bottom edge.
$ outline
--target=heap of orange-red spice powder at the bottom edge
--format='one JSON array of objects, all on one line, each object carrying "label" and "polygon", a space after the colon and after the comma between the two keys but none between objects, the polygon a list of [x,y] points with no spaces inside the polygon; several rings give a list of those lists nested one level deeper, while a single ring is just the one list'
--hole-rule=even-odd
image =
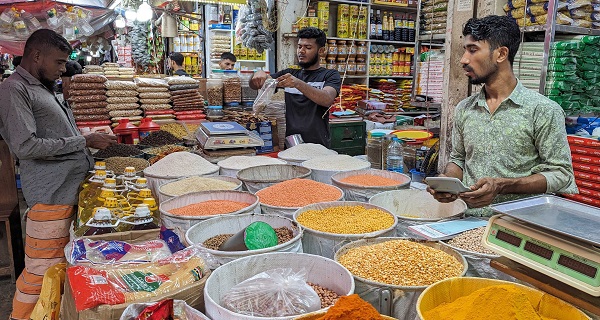
[{"label": "heap of orange-red spice powder at the bottom edge", "polygon": [[340,297],[327,313],[317,320],[381,320],[382,317],[372,305],[357,294]]}]

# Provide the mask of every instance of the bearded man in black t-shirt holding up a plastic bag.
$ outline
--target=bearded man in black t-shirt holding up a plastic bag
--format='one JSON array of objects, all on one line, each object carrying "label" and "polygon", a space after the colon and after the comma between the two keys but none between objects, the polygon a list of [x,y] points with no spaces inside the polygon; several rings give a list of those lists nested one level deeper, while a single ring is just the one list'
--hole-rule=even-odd
[{"label": "bearded man in black t-shirt holding up a plastic bag", "polygon": [[[298,32],[298,65],[302,69],[285,69],[273,74],[277,86],[285,88],[285,135],[302,135],[304,142],[329,148],[329,106],[340,93],[341,80],[336,70],[319,64],[319,53],[325,50],[327,36],[317,28]],[[268,75],[258,71],[250,87],[260,89]]]}]

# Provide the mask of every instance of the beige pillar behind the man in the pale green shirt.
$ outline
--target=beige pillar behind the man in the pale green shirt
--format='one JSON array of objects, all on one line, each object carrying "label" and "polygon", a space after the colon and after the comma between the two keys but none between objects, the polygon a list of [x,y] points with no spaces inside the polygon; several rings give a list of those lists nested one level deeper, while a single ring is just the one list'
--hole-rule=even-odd
[{"label": "beige pillar behind the man in the pale green shirt", "polygon": [[440,128],[440,157],[438,169],[444,171],[452,150],[452,126],[456,105],[469,96],[469,81],[460,64],[463,55],[462,29],[473,17],[475,0],[456,0],[448,2],[448,19],[444,55],[444,85],[442,96],[442,117]]}]

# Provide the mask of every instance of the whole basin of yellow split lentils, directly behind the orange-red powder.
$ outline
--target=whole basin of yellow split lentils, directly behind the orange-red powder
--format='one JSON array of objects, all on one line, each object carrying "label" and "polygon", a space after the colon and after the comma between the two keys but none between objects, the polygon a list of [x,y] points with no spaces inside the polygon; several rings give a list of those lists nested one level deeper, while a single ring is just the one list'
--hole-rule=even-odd
[{"label": "whole basin of yellow split lentils, directly behind the orange-red powder", "polygon": [[417,299],[429,285],[467,271],[465,258],[448,246],[402,238],[350,242],[335,261],[352,273],[361,298],[400,320],[417,318]]}]

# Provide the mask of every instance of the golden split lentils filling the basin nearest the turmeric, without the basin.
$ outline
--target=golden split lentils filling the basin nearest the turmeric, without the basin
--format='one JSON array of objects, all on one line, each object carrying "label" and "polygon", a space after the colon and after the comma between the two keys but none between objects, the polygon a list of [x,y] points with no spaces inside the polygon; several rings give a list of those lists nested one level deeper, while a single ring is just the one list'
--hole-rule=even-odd
[{"label": "golden split lentils filling the basin nearest the turmeric, without the basin", "polygon": [[355,276],[396,286],[428,286],[463,271],[453,256],[407,240],[352,248],[339,262]]}]

